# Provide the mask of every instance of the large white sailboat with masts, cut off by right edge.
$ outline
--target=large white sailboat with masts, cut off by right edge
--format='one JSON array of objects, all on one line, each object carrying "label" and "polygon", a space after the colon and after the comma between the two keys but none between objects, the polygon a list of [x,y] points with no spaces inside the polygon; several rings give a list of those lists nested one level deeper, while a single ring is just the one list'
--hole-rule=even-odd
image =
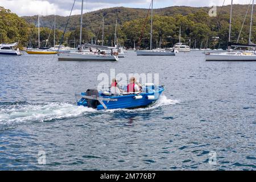
[{"label": "large white sailboat with masts, cut off by right edge", "polygon": [[238,44],[230,42],[230,35],[231,35],[231,23],[232,23],[232,5],[233,0],[231,1],[231,9],[230,9],[230,20],[229,20],[229,46],[227,52],[220,52],[220,53],[205,53],[205,60],[207,61],[256,61],[256,54],[255,51],[230,51],[231,47],[256,47],[255,44],[251,43],[251,26],[253,21],[253,6],[254,0],[251,7],[251,22],[250,22],[250,35],[249,35],[249,44]]}]

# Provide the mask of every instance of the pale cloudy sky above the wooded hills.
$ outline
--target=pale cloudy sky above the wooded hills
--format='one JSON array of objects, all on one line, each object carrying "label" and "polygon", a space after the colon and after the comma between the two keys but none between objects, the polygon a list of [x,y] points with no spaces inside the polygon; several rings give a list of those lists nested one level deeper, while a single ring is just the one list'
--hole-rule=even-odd
[{"label": "pale cloudy sky above the wooded hills", "polygon": [[[76,0],[75,9],[72,14],[80,14],[81,1]],[[104,9],[108,7],[138,7],[148,8],[151,0],[84,0],[84,12]],[[248,4],[251,0],[234,0],[234,4]],[[154,8],[168,6],[221,6],[224,0],[155,0]],[[225,5],[229,5],[231,0],[225,0]],[[0,6],[10,9],[19,16],[24,15],[64,15],[68,16],[73,4],[73,0],[0,0]]]}]

